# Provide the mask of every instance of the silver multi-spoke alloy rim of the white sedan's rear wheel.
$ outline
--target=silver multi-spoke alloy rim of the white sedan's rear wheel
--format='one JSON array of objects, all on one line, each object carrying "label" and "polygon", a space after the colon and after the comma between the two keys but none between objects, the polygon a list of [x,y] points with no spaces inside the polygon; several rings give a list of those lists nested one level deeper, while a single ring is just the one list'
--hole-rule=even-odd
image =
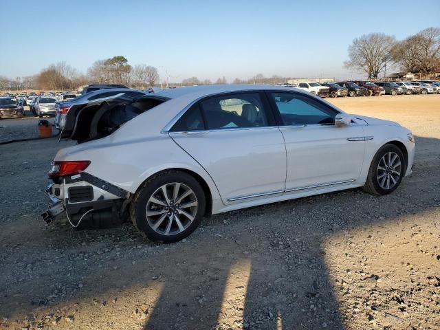
[{"label": "silver multi-spoke alloy rim of the white sedan's rear wheel", "polygon": [[159,234],[179,234],[194,221],[197,207],[197,197],[191,188],[178,182],[164,184],[148,199],[146,220]]}]

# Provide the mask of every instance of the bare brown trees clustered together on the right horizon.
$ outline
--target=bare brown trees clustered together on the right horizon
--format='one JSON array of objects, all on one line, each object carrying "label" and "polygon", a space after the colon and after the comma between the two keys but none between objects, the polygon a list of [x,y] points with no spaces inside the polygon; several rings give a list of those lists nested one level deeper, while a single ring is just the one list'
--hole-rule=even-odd
[{"label": "bare brown trees clustered together on the right horizon", "polygon": [[382,33],[364,34],[349,45],[349,60],[344,65],[379,78],[386,65],[413,74],[440,72],[440,28],[427,28],[397,41]]}]

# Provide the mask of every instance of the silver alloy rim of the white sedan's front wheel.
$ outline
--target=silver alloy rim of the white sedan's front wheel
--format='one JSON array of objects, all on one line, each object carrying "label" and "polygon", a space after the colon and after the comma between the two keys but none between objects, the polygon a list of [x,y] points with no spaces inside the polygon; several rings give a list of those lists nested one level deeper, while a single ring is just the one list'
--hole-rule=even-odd
[{"label": "silver alloy rim of the white sedan's front wheel", "polygon": [[392,189],[399,182],[401,169],[401,159],[397,153],[390,151],[383,155],[376,170],[379,186],[385,190]]}]

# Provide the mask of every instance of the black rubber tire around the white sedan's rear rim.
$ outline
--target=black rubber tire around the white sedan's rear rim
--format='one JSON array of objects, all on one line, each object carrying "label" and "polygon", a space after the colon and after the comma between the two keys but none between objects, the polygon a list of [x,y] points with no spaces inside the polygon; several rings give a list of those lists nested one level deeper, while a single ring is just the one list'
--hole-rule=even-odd
[{"label": "black rubber tire around the white sedan's rear rim", "polygon": [[[150,223],[148,223],[146,208],[148,206],[148,201],[151,197],[153,197],[153,195],[155,194],[155,192],[157,192],[159,188],[161,188],[165,184],[173,183],[183,184],[190,188],[192,192],[194,192],[195,197],[197,198],[197,211],[192,222],[190,222],[188,227],[186,227],[183,231],[179,231],[177,232],[177,234],[160,234],[151,227]],[[151,241],[174,243],[180,241],[181,239],[184,239],[199,226],[201,219],[203,218],[203,214],[205,213],[205,208],[206,197],[203,192],[203,188],[201,188],[199,182],[187,173],[177,170],[167,170],[158,173],[157,175],[153,175],[153,177],[146,180],[144,184],[142,184],[142,186],[137,190],[135,197],[133,198],[133,201],[130,205],[130,217],[135,228]],[[172,212],[170,213],[171,217],[173,217]],[[171,226],[177,225],[174,218],[173,220],[169,220],[169,218],[167,218],[168,217],[165,217],[165,219],[162,221],[164,224],[165,222],[168,224],[169,221],[171,221]]]}]

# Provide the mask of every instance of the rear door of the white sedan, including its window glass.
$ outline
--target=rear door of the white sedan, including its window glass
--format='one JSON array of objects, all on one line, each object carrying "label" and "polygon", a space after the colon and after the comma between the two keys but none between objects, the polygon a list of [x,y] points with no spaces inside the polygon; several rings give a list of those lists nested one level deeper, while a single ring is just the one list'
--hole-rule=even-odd
[{"label": "rear door of the white sedan, including its window glass", "polygon": [[221,94],[200,100],[169,134],[209,173],[223,203],[284,192],[285,143],[264,94]]}]

